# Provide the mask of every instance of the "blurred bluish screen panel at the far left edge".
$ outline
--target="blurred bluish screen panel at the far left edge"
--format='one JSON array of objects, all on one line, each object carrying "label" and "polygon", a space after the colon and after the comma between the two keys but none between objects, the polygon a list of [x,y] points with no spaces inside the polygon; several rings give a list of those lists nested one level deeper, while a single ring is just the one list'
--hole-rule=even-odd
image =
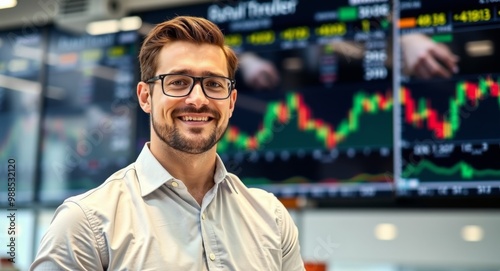
[{"label": "blurred bluish screen panel at the far left edge", "polygon": [[0,33],[0,204],[34,196],[44,39],[32,30]]}]

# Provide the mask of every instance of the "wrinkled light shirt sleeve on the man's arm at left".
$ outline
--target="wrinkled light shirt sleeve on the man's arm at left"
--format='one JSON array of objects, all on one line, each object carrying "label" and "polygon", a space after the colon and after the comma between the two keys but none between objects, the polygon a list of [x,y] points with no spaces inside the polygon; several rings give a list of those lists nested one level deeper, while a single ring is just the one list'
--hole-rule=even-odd
[{"label": "wrinkled light shirt sleeve on the man's arm at left", "polygon": [[57,208],[29,270],[103,271],[99,251],[88,216],[78,204],[67,201]]}]

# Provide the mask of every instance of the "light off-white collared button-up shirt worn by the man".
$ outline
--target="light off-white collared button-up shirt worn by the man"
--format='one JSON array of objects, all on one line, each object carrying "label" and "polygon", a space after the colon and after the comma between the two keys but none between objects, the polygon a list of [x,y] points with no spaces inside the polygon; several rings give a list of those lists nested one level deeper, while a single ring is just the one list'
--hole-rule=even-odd
[{"label": "light off-white collared button-up shirt worn by the man", "polygon": [[135,163],[59,206],[30,270],[304,270],[298,231],[274,195],[217,157],[200,206],[146,144]]}]

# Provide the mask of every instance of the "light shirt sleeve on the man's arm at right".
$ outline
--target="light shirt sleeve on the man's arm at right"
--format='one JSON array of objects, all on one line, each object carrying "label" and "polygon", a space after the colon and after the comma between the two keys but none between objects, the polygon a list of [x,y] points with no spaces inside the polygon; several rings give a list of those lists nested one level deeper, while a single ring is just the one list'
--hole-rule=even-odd
[{"label": "light shirt sleeve on the man's arm at right", "polygon": [[304,262],[300,254],[299,231],[283,204],[277,200],[277,219],[281,230],[281,249],[283,271],[304,271]]}]

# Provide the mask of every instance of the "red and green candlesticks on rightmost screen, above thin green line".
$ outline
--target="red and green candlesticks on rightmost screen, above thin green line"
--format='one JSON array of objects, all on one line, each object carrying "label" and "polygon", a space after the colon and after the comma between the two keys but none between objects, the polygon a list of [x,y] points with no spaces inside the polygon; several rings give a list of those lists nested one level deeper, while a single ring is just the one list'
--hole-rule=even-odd
[{"label": "red and green candlesticks on rightmost screen, above thin green line", "polygon": [[[448,92],[446,89],[450,87],[454,93],[446,97]],[[404,133],[404,138],[470,140],[500,137],[498,129],[484,125],[484,121],[493,125],[498,124],[500,106],[498,81],[491,77],[481,78],[477,82],[459,81],[455,86],[442,85],[432,91],[435,93],[429,98],[415,99],[413,93],[422,92],[422,89],[412,91],[408,87],[402,87],[400,96],[404,108],[403,120],[405,125],[414,128],[405,129],[411,132]],[[441,108],[438,108],[433,103],[437,101],[439,104],[440,99],[447,100],[447,104],[441,104]],[[477,126],[476,129],[469,129],[472,125]]]}]

